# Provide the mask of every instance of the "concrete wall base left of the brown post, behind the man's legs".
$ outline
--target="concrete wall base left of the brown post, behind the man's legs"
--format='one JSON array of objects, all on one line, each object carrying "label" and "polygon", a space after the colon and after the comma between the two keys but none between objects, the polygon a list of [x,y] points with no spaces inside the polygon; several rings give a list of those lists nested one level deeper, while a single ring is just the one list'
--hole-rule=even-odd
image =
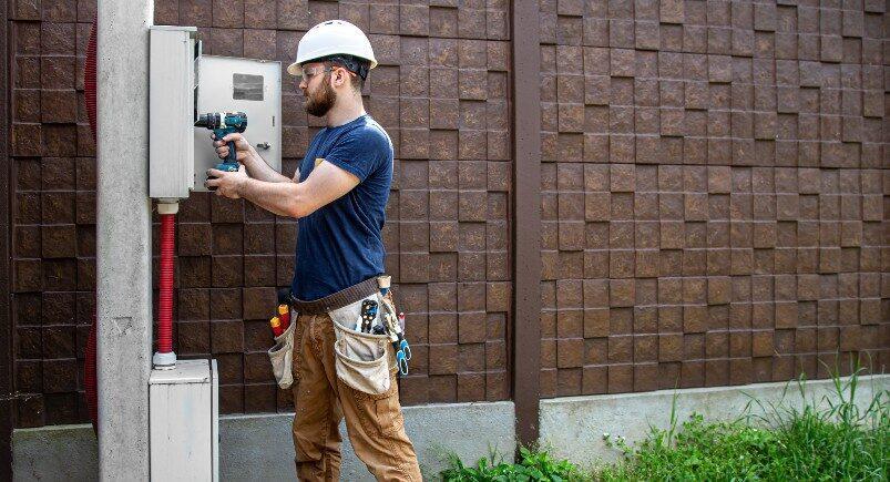
[{"label": "concrete wall base left of the brown post, behind the man's legs", "polygon": [[[453,451],[462,460],[512,453],[515,447],[513,402],[451,403],[406,407],[405,424],[418,452],[424,478],[436,479],[443,457]],[[221,480],[293,481],[293,413],[228,416],[219,419]],[[344,434],[340,480],[374,481]],[[16,430],[12,470],[17,481],[94,481],[98,452],[89,424]]]}]

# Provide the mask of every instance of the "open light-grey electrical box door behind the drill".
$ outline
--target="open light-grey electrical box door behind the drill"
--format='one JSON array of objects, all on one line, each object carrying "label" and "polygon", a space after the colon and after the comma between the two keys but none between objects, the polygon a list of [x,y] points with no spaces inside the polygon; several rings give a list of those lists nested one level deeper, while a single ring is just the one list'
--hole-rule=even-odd
[{"label": "open light-grey electrical box door behind the drill", "polygon": [[[203,55],[197,68],[196,114],[244,112],[244,136],[277,172],[282,171],[282,64],[264,60]],[[194,130],[194,191],[204,187],[206,172],[219,157],[211,132]]]}]

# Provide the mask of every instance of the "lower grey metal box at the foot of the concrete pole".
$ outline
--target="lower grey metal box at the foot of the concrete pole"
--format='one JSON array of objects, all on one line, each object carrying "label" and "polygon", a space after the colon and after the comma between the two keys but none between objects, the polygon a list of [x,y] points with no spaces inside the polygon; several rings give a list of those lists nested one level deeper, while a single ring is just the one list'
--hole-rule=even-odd
[{"label": "lower grey metal box at the foot of the concrete pole", "polygon": [[216,360],[178,360],[149,377],[153,481],[219,480]]}]

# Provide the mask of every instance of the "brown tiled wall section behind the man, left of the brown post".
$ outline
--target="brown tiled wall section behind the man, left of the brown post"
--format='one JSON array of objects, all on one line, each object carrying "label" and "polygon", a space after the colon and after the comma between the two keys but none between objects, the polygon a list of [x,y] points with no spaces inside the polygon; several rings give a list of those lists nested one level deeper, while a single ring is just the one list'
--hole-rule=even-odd
[{"label": "brown tiled wall section behind the man, left of the brown post", "polygon": [[[83,421],[95,163],[82,64],[95,6],[11,0],[10,12],[17,425]],[[330,18],[369,32],[380,62],[366,106],[396,146],[385,236],[413,351],[402,401],[507,399],[507,1],[155,2],[155,23],[197,25],[205,53],[284,66],[305,30]],[[321,125],[303,112],[293,79],[283,73],[288,174]],[[175,350],[218,361],[224,412],[290,410],[265,350],[276,287],[290,284],[296,224],[205,194],[183,203],[177,222]]]}]

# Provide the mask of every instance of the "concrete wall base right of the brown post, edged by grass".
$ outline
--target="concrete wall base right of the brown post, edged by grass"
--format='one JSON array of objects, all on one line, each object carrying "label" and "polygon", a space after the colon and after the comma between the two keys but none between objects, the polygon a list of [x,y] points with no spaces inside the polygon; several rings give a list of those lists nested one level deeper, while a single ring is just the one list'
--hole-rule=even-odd
[{"label": "concrete wall base right of the brown post, edged by grass", "polygon": [[[888,375],[860,377],[857,404],[865,409],[874,393],[888,388]],[[800,408],[805,400],[827,407],[823,397],[837,400],[833,394],[831,380],[809,380],[804,383],[802,392],[801,387],[792,381],[542,400],[541,442],[550,447],[555,457],[591,466],[621,457],[618,450],[606,447],[604,433],[612,438],[624,437],[630,444],[645,439],[649,427],[668,428],[675,396],[676,420],[679,424],[688,420],[693,412],[700,413],[706,420],[735,419],[753,399],[759,400],[767,409],[769,403]],[[751,413],[764,412],[753,404]]]}]

